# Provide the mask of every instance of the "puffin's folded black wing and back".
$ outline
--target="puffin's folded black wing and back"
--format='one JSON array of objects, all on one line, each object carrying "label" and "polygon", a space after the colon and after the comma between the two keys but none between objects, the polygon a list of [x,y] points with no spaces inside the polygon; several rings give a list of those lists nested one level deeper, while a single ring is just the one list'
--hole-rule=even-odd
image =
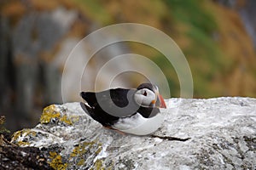
[{"label": "puffin's folded black wing and back", "polygon": [[134,101],[136,89],[115,88],[99,93],[82,92],[88,103],[84,108],[90,116],[103,126],[111,126],[119,117],[134,115],[139,105]]}]

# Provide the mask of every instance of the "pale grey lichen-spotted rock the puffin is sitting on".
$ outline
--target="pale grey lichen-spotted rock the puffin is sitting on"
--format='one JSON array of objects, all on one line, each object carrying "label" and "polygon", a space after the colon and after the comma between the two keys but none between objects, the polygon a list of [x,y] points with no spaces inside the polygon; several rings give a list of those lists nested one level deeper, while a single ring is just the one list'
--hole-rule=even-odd
[{"label": "pale grey lichen-spotted rock the puffin is sitting on", "polygon": [[103,128],[79,103],[49,105],[12,143],[47,151],[67,169],[255,169],[256,99],[167,99],[151,136]]}]

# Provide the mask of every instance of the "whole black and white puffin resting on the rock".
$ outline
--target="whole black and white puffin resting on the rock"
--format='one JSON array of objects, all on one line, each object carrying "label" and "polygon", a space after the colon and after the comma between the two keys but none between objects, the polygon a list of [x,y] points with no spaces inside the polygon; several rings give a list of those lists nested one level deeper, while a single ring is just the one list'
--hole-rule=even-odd
[{"label": "whole black and white puffin resting on the rock", "polygon": [[111,88],[102,92],[81,92],[83,110],[103,127],[120,133],[148,135],[164,120],[160,108],[166,103],[159,88],[142,83],[137,88]]}]

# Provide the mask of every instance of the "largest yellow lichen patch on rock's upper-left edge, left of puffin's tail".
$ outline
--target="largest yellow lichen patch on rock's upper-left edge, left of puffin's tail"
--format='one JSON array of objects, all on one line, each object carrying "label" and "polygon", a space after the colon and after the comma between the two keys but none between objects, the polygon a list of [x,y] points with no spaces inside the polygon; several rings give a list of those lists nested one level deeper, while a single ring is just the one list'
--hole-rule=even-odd
[{"label": "largest yellow lichen patch on rock's upper-left edge, left of puffin's tail", "polygon": [[47,124],[50,122],[52,118],[60,118],[61,113],[55,111],[55,105],[49,105],[48,107],[44,108],[43,114],[40,117],[41,124]]}]

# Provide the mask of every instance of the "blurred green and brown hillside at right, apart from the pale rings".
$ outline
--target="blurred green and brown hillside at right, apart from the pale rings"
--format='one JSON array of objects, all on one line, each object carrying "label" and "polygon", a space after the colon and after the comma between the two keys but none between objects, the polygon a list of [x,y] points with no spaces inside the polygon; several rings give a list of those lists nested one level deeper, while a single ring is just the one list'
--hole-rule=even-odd
[{"label": "blurred green and brown hillside at right, apart from the pale rings", "polygon": [[[256,83],[256,76],[252,65],[255,50],[235,10],[204,0],[150,3],[76,0],[76,3],[100,26],[120,22],[142,23],[172,37],[189,61],[195,98],[255,96],[253,83]],[[147,56],[160,66],[169,82],[172,97],[179,97],[176,71],[165,56],[141,44],[129,45],[132,53]]]}]

